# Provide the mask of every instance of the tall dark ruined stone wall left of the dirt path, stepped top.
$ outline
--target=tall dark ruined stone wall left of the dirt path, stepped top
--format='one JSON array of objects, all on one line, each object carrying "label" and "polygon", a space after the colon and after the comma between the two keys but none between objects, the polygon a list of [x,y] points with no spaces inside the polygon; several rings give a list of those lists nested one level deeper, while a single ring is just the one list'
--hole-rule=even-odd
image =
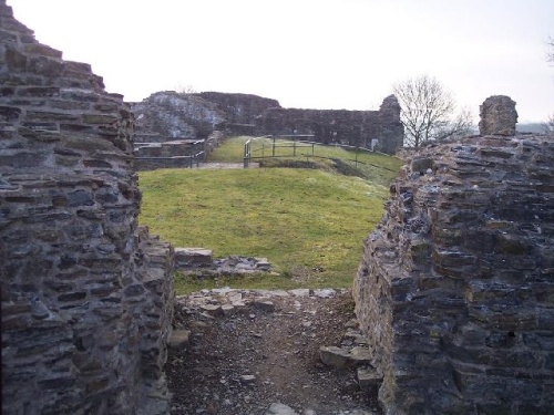
[{"label": "tall dark ruined stone wall left of the dirt path, stepped top", "polygon": [[0,0],[2,414],[162,414],[173,250],[137,226],[133,115]]}]

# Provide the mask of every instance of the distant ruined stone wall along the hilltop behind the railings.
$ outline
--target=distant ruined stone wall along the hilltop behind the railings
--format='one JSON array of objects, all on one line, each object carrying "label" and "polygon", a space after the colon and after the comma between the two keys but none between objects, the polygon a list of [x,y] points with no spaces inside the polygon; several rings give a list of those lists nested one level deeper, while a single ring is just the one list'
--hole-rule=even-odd
[{"label": "distant ruined stone wall along the hilltop behind the railings", "polygon": [[[379,111],[283,108],[276,100],[249,94],[156,92],[133,103],[138,169],[189,167],[182,156],[206,155],[229,135],[312,135],[324,144],[345,144],[394,154],[403,144],[400,105],[391,95]],[[308,138],[308,137],[306,137]],[[202,145],[201,145],[202,147]]]}]

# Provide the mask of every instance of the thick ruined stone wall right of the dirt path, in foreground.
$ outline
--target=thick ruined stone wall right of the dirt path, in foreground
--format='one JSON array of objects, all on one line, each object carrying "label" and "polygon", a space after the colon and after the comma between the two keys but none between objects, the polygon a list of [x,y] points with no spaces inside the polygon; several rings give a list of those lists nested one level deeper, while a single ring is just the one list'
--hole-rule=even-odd
[{"label": "thick ruined stone wall right of the dirt path, in foreground", "polygon": [[554,407],[554,142],[414,153],[366,241],[356,312],[387,414]]}]

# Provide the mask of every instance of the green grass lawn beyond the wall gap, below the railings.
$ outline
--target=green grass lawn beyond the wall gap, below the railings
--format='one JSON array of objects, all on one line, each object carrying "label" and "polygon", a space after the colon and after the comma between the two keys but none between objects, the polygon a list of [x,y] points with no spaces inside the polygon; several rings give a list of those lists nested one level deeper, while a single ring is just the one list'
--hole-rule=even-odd
[{"label": "green grass lawn beyond the wall gap, below the railings", "polygon": [[179,277],[178,292],[216,284],[350,287],[362,240],[388,198],[382,183],[298,168],[141,172],[140,186],[140,222],[151,232],[215,257],[266,257],[278,273],[207,282]]}]

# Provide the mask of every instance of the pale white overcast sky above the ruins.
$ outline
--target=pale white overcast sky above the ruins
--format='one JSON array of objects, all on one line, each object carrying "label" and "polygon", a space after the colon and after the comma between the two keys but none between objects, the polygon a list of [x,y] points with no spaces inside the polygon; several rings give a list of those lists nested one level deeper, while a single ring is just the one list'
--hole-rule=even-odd
[{"label": "pale white overcast sky above the ruins", "polygon": [[106,90],[242,92],[285,107],[377,110],[435,76],[478,117],[490,95],[520,122],[554,113],[554,0],[8,0]]}]

